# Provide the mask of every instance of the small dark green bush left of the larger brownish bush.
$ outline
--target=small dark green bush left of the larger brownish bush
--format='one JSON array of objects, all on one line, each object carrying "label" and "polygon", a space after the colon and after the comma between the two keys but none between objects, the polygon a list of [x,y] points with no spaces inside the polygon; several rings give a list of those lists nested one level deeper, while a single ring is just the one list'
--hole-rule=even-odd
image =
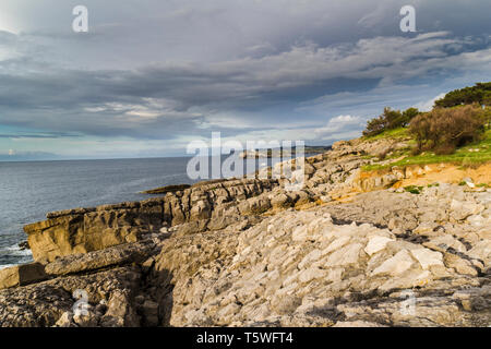
[{"label": "small dark green bush left of the larger brownish bush", "polygon": [[364,136],[378,135],[386,130],[394,130],[398,128],[406,128],[411,119],[419,113],[418,109],[409,108],[405,111],[392,110],[385,108],[384,112],[367,123],[367,129],[363,131]]}]

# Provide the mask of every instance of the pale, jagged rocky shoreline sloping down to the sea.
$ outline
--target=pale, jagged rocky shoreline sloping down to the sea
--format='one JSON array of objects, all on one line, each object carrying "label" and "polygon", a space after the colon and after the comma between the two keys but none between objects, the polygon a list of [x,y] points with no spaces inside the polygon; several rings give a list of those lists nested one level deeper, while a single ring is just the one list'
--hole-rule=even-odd
[{"label": "pale, jagged rocky shoreline sloping down to the sea", "polygon": [[50,213],[25,227],[35,263],[0,270],[0,326],[490,326],[491,190],[363,171],[404,147],[338,142],[297,192],[237,179]]}]

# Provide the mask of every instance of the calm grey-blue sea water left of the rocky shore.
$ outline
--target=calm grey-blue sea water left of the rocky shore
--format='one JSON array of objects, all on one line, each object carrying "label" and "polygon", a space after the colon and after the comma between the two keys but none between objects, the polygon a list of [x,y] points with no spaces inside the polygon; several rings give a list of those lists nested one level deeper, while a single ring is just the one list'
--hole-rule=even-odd
[{"label": "calm grey-blue sea water left of the rocky shore", "polygon": [[[0,161],[0,268],[32,261],[31,251],[19,248],[26,240],[24,225],[52,210],[140,201],[151,197],[139,194],[144,190],[191,184],[189,159]],[[278,160],[260,160],[256,166]]]}]

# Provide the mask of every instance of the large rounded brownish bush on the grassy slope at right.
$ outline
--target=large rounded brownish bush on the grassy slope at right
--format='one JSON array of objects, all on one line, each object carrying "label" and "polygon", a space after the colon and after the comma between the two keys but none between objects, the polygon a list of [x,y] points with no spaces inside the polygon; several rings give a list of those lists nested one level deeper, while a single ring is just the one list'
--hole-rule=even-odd
[{"label": "large rounded brownish bush on the grassy slope at right", "polygon": [[478,141],[484,131],[484,113],[479,106],[435,108],[412,119],[409,132],[417,142],[416,153],[434,151],[444,155]]}]

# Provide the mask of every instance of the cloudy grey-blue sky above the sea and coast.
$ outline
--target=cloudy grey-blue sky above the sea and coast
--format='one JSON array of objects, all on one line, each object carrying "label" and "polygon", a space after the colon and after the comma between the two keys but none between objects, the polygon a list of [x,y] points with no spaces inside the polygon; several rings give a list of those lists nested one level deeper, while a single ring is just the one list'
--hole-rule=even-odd
[{"label": "cloudy grey-blue sky above the sea and coast", "polygon": [[0,160],[180,156],[212,132],[354,139],[384,107],[429,110],[490,81],[489,13],[489,0],[2,0]]}]

